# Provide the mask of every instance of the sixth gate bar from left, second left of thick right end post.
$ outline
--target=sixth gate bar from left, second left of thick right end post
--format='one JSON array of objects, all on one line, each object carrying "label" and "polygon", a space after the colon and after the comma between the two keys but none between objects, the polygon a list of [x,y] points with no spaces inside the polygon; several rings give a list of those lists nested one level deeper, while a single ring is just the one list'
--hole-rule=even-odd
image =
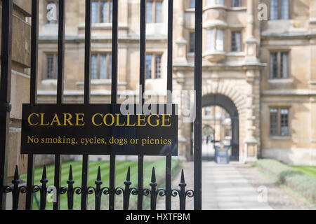
[{"label": "sixth gate bar from left, second left of thick right end post", "polygon": [[[143,106],[143,94],[145,92],[146,69],[146,0],[140,0],[140,73],[139,73],[139,104]],[[138,203],[137,209],[143,209],[143,175],[144,156],[138,155]]]}]

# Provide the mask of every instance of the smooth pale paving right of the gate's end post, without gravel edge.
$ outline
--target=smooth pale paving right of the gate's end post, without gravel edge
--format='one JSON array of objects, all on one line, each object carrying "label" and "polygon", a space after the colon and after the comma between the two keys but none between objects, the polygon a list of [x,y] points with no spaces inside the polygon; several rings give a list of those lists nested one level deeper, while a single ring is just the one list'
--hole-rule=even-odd
[{"label": "smooth pale paving right of the gate's end post, without gravel edge", "polygon": [[[268,203],[234,167],[215,162],[202,164],[202,209],[204,210],[267,210]],[[259,200],[258,200],[259,197]]]}]

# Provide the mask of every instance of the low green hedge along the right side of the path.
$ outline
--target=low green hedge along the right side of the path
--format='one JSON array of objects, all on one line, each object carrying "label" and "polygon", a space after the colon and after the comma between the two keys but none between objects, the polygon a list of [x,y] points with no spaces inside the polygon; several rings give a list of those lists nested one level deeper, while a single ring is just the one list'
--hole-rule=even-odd
[{"label": "low green hedge along the right side of the path", "polygon": [[316,178],[313,176],[306,175],[276,160],[258,160],[257,165],[268,174],[275,176],[280,183],[316,204]]}]

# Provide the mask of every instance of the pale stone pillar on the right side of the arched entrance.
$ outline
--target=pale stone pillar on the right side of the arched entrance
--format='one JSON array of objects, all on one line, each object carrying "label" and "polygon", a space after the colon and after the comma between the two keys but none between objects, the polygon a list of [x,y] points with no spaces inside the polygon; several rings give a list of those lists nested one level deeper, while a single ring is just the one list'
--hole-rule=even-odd
[{"label": "pale stone pillar on the right side of the arched entrance", "polygon": [[255,71],[246,71],[246,81],[249,84],[249,92],[246,99],[246,138],[244,139],[244,158],[242,162],[256,162],[258,158],[258,141],[254,130],[254,80]]}]

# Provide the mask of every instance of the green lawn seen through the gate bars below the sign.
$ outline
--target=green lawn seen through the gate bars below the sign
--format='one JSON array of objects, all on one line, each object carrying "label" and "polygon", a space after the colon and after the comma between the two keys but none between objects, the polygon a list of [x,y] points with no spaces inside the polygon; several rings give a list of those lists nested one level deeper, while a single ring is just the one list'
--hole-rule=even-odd
[{"label": "green lawn seen through the gate bars below the sign", "polygon": [[[69,168],[72,165],[72,175],[74,179],[74,187],[81,186],[81,169],[82,164],[80,161],[73,161],[73,162],[63,162],[62,163],[62,176],[61,176],[61,186],[67,186],[66,181],[68,180],[69,175]],[[166,160],[164,158],[156,160],[154,162],[144,162],[144,188],[150,188],[150,179],[152,174],[152,167],[156,170],[156,178],[158,187],[164,186],[164,176],[165,176],[165,165]],[[94,181],[96,181],[98,167],[101,168],[101,179],[103,181],[103,185],[101,188],[105,186],[109,186],[109,169],[110,169],[110,162],[109,161],[91,161],[89,162],[89,169],[88,169],[88,186],[96,186]],[[124,187],[124,181],[126,180],[126,173],[128,167],[131,167],[131,187],[137,186],[137,170],[138,170],[138,162],[131,162],[131,161],[117,161],[116,162],[116,186],[117,187]],[[172,174],[173,176],[178,172],[180,169],[180,162],[178,160],[173,160],[172,162]],[[43,168],[39,167],[34,171],[34,185],[41,185],[41,174]],[[53,177],[54,177],[54,166],[46,167],[47,172],[47,179],[48,183],[47,186],[53,185]],[[20,179],[26,180],[26,175],[21,175]],[[180,180],[179,180],[180,181]],[[116,196],[116,209],[123,208],[123,200],[122,195]],[[39,193],[34,195],[34,203],[33,209],[38,209],[39,202]],[[81,202],[81,195],[74,194],[74,209],[80,209],[80,202]],[[136,209],[137,196],[131,195],[130,200],[130,209]],[[102,196],[101,202],[101,209],[108,209],[108,195]],[[53,207],[53,203],[47,203],[46,209],[50,210]],[[144,209],[148,209],[150,207],[150,197],[144,197]],[[60,209],[67,210],[67,195],[60,196]],[[94,194],[88,195],[88,209],[94,209]]]}]

